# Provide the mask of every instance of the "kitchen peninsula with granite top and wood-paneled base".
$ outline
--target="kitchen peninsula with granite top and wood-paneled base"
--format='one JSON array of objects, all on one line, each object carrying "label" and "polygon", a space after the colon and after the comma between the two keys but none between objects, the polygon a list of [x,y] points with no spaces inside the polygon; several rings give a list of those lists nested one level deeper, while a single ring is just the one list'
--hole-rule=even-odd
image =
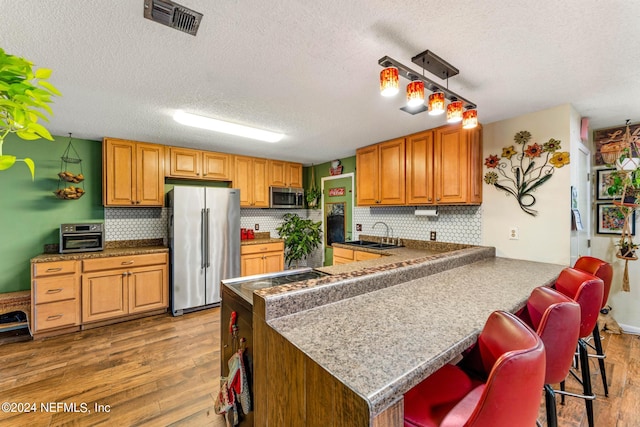
[{"label": "kitchen peninsula with granite top and wood-paneled base", "polygon": [[402,426],[404,393],[563,267],[476,246],[256,291],[255,425]]}]

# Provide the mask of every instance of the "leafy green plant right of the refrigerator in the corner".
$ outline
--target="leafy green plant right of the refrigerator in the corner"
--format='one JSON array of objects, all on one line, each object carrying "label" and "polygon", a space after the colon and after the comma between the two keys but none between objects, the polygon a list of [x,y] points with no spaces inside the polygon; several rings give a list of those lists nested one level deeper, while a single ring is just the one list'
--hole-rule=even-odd
[{"label": "leafy green plant right of the refrigerator in the corner", "polygon": [[284,259],[289,267],[306,258],[320,246],[322,223],[310,219],[300,218],[298,214],[286,213],[282,216],[284,222],[276,228],[278,235],[284,239]]}]

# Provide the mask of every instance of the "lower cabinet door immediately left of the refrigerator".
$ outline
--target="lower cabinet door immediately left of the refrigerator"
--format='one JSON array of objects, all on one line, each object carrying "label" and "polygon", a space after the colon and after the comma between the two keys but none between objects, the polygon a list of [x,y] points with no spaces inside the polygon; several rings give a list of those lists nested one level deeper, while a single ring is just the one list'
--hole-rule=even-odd
[{"label": "lower cabinet door immediately left of the refrigerator", "polygon": [[169,282],[166,265],[136,269],[128,279],[130,314],[168,306]]}]

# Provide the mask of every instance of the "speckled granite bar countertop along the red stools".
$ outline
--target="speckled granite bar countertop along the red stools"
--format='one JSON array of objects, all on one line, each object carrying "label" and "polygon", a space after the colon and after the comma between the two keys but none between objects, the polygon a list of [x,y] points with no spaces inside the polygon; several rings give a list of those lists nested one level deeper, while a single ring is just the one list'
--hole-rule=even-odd
[{"label": "speckled granite bar countertop along the red stools", "polygon": [[267,322],[376,415],[468,348],[492,311],[516,311],[563,268],[486,257]]}]

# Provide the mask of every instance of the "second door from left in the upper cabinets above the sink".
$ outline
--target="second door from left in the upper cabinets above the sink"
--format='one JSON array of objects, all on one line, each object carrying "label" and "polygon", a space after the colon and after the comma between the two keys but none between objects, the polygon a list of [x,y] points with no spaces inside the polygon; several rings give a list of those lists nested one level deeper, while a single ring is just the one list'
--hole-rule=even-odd
[{"label": "second door from left in the upper cabinets above the sink", "polygon": [[404,138],[383,142],[378,150],[380,204],[404,205]]}]

